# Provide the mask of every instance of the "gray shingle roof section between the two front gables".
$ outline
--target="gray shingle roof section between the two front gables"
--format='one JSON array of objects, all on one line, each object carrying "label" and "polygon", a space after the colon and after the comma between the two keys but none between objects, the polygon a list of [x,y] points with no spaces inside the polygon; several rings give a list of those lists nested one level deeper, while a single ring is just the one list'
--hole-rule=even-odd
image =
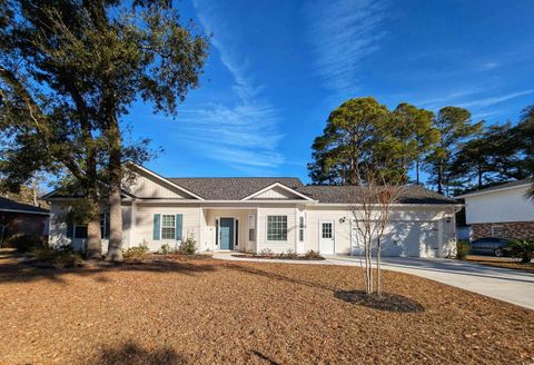
[{"label": "gray shingle roof section between the two front gables", "polygon": [[206,200],[240,200],[269,185],[280,182],[291,189],[303,186],[294,177],[168,178]]}]

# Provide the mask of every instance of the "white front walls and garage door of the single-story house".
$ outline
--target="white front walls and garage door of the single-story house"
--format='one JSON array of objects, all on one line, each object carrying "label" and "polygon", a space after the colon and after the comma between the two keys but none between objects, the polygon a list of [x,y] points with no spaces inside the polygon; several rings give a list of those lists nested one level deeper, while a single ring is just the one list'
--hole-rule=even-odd
[{"label": "white front walls and garage door of the single-story house", "polygon": [[[53,201],[50,219],[50,243],[68,244],[67,224],[60,217],[67,211],[67,204]],[[239,246],[236,249],[260,253],[270,249],[274,253],[294,250],[304,254],[308,250],[320,251],[319,224],[334,223],[334,245],[337,255],[357,254],[357,235],[353,223],[353,213],[344,206],[305,205],[304,203],[257,203],[224,204],[220,207],[202,207],[204,203],[154,203],[125,201],[122,207],[123,247],[134,247],[145,243],[151,251],[161,245],[178,247],[176,240],[154,240],[154,215],[182,215],[182,234],[192,234],[198,250],[214,250],[215,219],[233,217],[239,219]],[[249,215],[254,215],[255,240],[249,240]],[[287,216],[287,240],[267,241],[267,216]],[[304,243],[298,240],[298,217],[305,217]],[[403,207],[392,213],[392,226],[385,233],[384,256],[449,256],[455,250],[455,221],[452,206]],[[102,241],[107,249],[107,241]]]}]

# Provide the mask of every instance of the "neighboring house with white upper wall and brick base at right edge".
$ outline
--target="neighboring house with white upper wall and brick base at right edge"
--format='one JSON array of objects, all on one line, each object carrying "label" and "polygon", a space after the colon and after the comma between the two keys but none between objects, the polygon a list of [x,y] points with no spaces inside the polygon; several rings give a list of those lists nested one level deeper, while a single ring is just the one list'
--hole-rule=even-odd
[{"label": "neighboring house with white upper wall and brick base at right edge", "polygon": [[534,238],[534,201],[527,197],[534,179],[523,179],[464,194],[466,223],[473,239]]}]

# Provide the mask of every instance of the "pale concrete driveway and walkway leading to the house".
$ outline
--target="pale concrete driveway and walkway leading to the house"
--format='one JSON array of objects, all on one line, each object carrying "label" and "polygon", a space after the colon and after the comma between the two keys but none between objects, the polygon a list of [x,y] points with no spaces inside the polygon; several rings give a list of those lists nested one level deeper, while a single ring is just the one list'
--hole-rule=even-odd
[{"label": "pale concrete driveway and walkway leading to the house", "polygon": [[[229,254],[215,254],[214,258],[307,265],[360,266],[359,258],[330,256],[320,262],[237,258]],[[383,258],[384,269],[422,276],[492,298],[534,309],[534,274],[491,267],[445,258]]]}]

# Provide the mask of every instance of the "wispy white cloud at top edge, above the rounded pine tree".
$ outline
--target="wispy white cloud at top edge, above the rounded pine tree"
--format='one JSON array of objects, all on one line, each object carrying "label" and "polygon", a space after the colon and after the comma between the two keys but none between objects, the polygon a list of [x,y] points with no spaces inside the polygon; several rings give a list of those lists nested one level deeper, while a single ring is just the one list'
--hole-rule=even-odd
[{"label": "wispy white cloud at top edge, above the rounded pine tree", "polygon": [[308,3],[309,40],[317,73],[335,91],[356,89],[358,66],[379,47],[385,2],[316,0]]}]

